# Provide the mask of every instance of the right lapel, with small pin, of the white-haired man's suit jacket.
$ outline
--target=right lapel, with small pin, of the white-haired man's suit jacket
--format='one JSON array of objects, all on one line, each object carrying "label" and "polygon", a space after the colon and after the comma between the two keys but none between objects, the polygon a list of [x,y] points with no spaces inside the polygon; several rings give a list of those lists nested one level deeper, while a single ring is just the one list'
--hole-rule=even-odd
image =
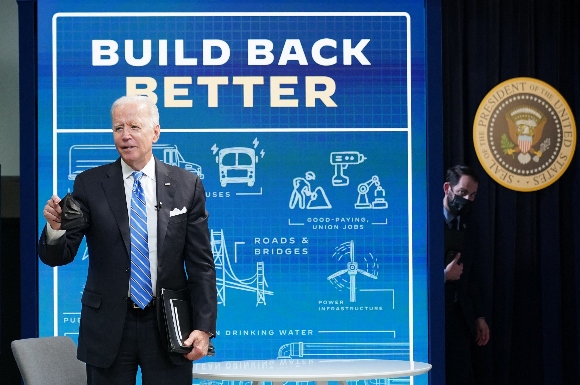
[{"label": "right lapel, with small pin, of the white-haired man's suit jacket", "polygon": [[175,181],[171,178],[171,170],[163,162],[155,158],[155,180],[157,183],[157,202],[161,204],[161,210],[157,211],[157,258],[162,263],[163,243],[167,233],[169,211],[173,207],[175,196]]}]

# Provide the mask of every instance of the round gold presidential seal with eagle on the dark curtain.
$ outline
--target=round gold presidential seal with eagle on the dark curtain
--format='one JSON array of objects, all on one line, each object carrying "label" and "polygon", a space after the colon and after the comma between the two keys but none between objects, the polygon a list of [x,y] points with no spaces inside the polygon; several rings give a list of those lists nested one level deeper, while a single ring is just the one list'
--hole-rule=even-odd
[{"label": "round gold presidential seal with eagle on the dark curtain", "polygon": [[473,123],[479,162],[496,182],[516,191],[554,183],[572,161],[576,123],[566,100],[533,78],[506,80],[483,99]]}]

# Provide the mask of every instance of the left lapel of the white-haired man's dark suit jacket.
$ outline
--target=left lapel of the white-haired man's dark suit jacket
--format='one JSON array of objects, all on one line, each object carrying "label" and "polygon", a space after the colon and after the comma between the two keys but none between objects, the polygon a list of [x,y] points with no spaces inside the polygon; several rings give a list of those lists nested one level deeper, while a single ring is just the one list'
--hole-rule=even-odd
[{"label": "left lapel of the white-haired man's dark suit jacket", "polygon": [[[131,233],[129,231],[129,215],[127,213],[127,201],[125,199],[123,172],[121,171],[121,158],[112,163],[105,174],[107,178],[103,179],[101,185],[103,186],[107,202],[123,237],[127,255],[131,255]],[[120,199],[121,197],[123,199]]]}]

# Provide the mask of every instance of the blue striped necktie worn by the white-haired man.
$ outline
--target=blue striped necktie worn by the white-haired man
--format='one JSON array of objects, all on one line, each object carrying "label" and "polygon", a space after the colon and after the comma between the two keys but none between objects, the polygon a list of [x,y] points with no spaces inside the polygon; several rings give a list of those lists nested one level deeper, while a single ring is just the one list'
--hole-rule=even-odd
[{"label": "blue striped necktie worn by the white-haired man", "polygon": [[133,172],[131,195],[131,299],[144,309],[153,299],[149,246],[147,237],[147,208],[141,186],[142,171]]}]

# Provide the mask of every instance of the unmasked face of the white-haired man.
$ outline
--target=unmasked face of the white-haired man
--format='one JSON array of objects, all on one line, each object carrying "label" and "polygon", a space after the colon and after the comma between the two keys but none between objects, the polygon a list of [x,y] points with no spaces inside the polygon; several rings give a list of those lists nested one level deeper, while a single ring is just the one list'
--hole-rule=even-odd
[{"label": "unmasked face of the white-haired man", "polygon": [[139,103],[117,106],[113,111],[113,139],[121,158],[134,170],[141,170],[153,155],[159,139],[159,125],[152,127],[147,107]]}]

